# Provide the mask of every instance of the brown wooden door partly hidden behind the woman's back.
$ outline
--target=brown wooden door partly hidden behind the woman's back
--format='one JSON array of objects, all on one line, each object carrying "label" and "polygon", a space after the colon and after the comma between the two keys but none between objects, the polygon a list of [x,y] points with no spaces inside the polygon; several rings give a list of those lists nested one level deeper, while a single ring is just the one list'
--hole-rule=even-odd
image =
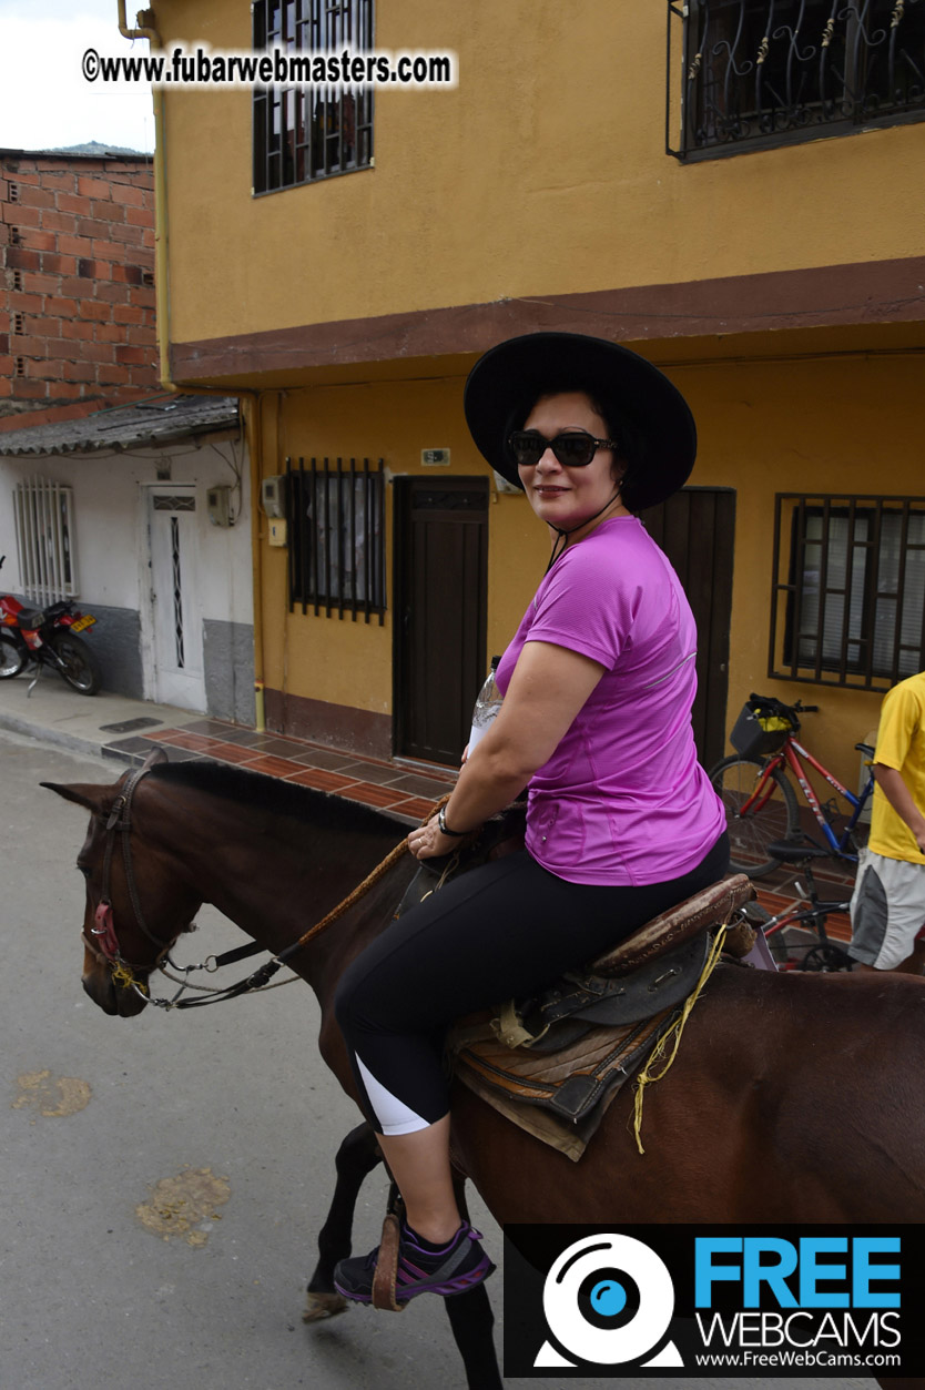
[{"label": "brown wooden door partly hidden behind the woman's back", "polygon": [[711,767],[726,746],[736,495],[731,488],[683,488],[642,520],[675,567],[697,623],[693,727],[700,762]]}]

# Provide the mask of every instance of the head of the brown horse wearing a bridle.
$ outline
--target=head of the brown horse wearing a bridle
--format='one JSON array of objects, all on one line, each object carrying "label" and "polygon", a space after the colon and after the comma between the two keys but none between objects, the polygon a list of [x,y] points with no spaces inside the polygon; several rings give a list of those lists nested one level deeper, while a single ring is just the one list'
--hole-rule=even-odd
[{"label": "head of the brown horse wearing a bridle", "polygon": [[90,812],[76,858],[86,883],[82,983],[94,1004],[121,1017],[142,1012],[151,970],[181,933],[193,930],[200,903],[179,874],[162,872],[156,844],[146,845],[143,858],[132,852],[139,835],[135,788],[151,767],[165,762],[162,749],[154,749],[140,769],[111,787],[42,783]]}]

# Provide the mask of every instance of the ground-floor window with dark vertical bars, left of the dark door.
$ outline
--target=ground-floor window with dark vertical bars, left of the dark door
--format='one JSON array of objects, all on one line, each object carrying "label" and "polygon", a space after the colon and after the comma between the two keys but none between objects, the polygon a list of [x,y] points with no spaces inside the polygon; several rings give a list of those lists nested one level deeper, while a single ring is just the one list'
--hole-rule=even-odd
[{"label": "ground-floor window with dark vertical bars, left of the dark door", "polygon": [[375,613],[385,621],[385,475],[382,459],[286,460],[289,610],[328,617]]}]

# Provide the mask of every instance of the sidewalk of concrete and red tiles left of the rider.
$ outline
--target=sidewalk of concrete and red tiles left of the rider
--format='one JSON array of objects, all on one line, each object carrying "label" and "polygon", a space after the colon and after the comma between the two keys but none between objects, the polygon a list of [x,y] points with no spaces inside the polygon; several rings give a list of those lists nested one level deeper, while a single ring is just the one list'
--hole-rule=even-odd
[{"label": "sidewalk of concrete and red tiles left of the rider", "polygon": [[67,748],[139,764],[153,746],[171,762],[211,758],[250,771],[335,792],[349,801],[388,810],[417,824],[453,785],[450,769],[379,762],[301,738],[257,733],[193,710],[101,691],[79,695],[54,671],[43,671],[29,694],[33,673],[0,681],[0,730]]}]

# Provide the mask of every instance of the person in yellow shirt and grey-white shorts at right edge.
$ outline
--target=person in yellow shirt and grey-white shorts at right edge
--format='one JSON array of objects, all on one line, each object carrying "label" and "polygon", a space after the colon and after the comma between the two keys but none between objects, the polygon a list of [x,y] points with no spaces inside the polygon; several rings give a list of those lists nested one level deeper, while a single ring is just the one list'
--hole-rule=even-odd
[{"label": "person in yellow shirt and grey-white shorts at right edge", "polygon": [[[925,973],[925,671],[883,699],[874,813],[851,897],[858,967]],[[919,933],[922,935],[919,937]]]}]

